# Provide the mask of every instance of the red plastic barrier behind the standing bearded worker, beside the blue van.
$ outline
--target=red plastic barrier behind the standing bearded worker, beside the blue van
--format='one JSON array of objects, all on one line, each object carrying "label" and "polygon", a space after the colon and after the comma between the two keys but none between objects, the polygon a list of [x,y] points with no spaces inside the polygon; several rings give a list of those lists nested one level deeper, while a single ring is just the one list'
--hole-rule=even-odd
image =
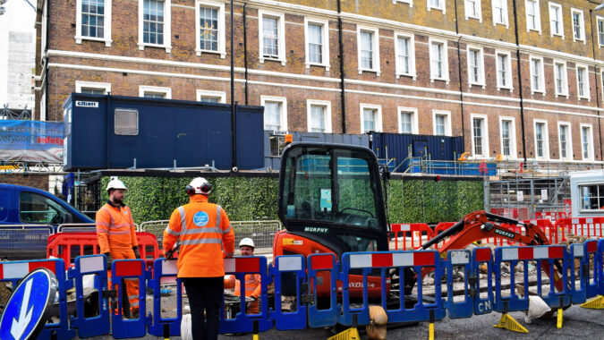
[{"label": "red plastic barrier behind the standing bearded worker, beside the blue van", "polygon": [[[154,234],[138,232],[136,239],[139,242],[141,259],[147,261],[147,267],[153,267],[153,260],[160,257],[157,247],[157,239]],[[47,258],[54,256],[65,261],[65,264],[73,265],[76,257],[81,255],[98,254],[97,233],[58,233],[48,237]]]}]

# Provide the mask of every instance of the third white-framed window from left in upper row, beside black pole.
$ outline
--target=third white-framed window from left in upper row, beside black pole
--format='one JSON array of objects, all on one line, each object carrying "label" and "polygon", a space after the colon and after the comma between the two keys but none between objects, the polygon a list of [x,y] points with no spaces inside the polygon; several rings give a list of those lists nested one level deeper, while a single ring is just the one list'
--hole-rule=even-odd
[{"label": "third white-framed window from left in upper row, beside black pole", "polygon": [[215,53],[225,58],[225,4],[200,0],[195,4],[196,54]]}]

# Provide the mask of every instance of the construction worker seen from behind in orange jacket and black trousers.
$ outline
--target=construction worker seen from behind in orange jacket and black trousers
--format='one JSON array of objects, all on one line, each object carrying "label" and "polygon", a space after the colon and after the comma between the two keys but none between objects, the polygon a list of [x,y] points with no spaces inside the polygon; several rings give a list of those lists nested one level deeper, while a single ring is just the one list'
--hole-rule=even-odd
[{"label": "construction worker seen from behind in orange jacket and black trousers", "polygon": [[224,258],[234,253],[234,232],[223,208],[208,203],[212,184],[194,178],[185,191],[189,204],[176,208],[164,231],[164,251],[180,237],[178,277],[191,306],[193,339],[218,338],[220,307],[224,295]]}]

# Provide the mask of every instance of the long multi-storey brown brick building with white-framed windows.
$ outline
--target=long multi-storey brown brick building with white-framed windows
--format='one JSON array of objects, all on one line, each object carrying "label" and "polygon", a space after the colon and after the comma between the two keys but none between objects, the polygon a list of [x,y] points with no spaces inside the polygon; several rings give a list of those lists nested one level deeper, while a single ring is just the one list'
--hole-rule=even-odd
[{"label": "long multi-storey brown brick building with white-framed windows", "polygon": [[[464,136],[602,164],[601,1],[245,0],[234,100],[265,129]],[[601,14],[601,16],[600,16]],[[38,0],[37,119],[73,91],[229,103],[229,2]]]}]

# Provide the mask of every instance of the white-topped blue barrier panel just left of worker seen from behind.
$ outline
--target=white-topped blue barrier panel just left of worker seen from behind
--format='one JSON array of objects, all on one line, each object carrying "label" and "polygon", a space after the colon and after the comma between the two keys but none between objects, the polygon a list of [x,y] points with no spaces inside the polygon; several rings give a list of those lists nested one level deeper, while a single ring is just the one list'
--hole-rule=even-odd
[{"label": "white-topped blue barrier panel just left of worker seen from behind", "polygon": [[[149,326],[152,336],[181,335],[181,320],[183,319],[183,285],[181,280],[175,278],[178,274],[177,259],[156,259],[153,262],[153,279],[149,280],[149,287],[153,289],[153,324]],[[161,316],[161,279],[174,277],[176,280],[176,317],[162,318]],[[167,329],[166,329],[167,328]]]}]

